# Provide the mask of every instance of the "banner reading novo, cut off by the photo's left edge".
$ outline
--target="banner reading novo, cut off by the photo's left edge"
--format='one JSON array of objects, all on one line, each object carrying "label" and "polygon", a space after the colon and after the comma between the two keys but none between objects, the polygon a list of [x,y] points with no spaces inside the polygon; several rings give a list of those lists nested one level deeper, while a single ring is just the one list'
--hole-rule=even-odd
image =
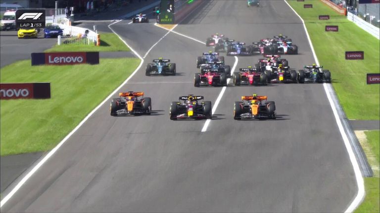
[{"label": "banner reading novo, cut off by the photo's left edge", "polygon": [[0,99],[49,99],[50,83],[0,83]]}]

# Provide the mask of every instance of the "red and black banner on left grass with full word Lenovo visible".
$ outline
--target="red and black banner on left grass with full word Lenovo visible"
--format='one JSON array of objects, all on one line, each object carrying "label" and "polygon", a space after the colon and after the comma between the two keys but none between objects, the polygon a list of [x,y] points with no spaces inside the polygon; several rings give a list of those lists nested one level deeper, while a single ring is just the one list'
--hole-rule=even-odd
[{"label": "red and black banner on left grass with full word Lenovo visible", "polygon": [[99,52],[32,53],[32,66],[99,64]]}]

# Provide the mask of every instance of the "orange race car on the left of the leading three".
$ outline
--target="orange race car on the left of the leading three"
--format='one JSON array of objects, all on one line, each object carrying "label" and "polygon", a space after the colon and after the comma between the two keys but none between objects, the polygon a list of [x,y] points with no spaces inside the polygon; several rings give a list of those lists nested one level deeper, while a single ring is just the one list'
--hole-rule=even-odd
[{"label": "orange race car on the left of the leading three", "polygon": [[150,114],[152,103],[150,98],[143,97],[143,92],[125,92],[119,93],[120,98],[113,98],[109,107],[112,116]]}]

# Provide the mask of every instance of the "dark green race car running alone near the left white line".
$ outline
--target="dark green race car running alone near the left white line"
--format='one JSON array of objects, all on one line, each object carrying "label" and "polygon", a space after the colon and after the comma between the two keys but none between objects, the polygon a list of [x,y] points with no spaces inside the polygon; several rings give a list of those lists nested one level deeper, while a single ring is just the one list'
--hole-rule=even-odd
[{"label": "dark green race car running alone near the left white line", "polygon": [[176,75],[176,63],[169,63],[169,59],[154,59],[145,68],[145,75]]}]

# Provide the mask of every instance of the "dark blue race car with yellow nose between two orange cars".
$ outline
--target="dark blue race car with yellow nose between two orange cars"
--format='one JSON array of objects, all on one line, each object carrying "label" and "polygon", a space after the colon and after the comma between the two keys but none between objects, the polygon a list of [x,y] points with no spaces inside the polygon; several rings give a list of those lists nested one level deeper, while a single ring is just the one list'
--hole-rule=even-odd
[{"label": "dark blue race car with yellow nose between two orange cars", "polygon": [[198,101],[203,100],[203,96],[187,95],[181,96],[179,102],[172,102],[170,104],[170,119],[211,119],[212,107],[210,101]]}]

